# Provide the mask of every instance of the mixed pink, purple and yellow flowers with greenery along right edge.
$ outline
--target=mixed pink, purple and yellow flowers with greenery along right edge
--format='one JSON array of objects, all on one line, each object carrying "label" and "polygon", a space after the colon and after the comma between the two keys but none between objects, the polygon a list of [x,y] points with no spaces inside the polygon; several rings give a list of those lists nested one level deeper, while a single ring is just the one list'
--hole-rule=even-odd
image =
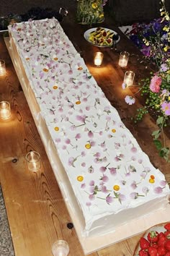
[{"label": "mixed pink, purple and yellow flowers with greenery along right edge", "polygon": [[[146,104],[138,108],[135,122],[152,111],[156,116],[158,129],[153,132],[153,142],[159,155],[169,161],[169,145],[166,145],[164,127],[170,124],[170,20],[166,12],[164,0],[161,0],[161,18],[149,24],[135,24],[128,36],[140,48],[145,58],[155,65],[156,72],[151,72],[151,77],[143,79],[137,93],[146,99]],[[125,89],[126,85],[122,84]],[[135,93],[136,94],[136,93]],[[127,95],[128,104],[135,103],[135,98]]]}]

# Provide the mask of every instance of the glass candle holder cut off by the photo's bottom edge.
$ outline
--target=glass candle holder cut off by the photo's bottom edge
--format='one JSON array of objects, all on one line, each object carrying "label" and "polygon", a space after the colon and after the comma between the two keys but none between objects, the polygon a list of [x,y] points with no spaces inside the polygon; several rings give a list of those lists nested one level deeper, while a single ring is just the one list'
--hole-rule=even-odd
[{"label": "glass candle holder cut off by the photo's bottom edge", "polygon": [[64,240],[58,240],[52,246],[53,256],[67,256],[69,252],[68,242]]}]

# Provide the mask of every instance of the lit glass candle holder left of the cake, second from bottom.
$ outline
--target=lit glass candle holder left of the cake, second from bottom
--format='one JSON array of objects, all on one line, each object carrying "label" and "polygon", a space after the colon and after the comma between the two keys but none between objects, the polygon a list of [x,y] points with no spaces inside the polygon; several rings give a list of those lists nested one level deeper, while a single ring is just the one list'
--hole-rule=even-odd
[{"label": "lit glass candle holder left of the cake, second from bottom", "polygon": [[41,159],[40,154],[36,151],[30,151],[25,156],[25,159],[27,161],[27,166],[30,171],[38,171],[41,167]]}]

